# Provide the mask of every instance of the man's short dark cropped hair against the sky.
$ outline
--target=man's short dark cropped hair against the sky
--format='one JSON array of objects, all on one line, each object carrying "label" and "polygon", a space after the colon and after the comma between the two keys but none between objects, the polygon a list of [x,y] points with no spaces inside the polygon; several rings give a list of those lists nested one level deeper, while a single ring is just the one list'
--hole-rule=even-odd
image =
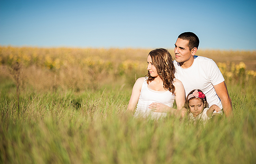
[{"label": "man's short dark cropped hair against the sky", "polygon": [[191,51],[194,47],[198,48],[199,46],[199,38],[193,32],[184,32],[180,34],[178,38],[189,41],[187,45],[189,47],[189,51]]}]

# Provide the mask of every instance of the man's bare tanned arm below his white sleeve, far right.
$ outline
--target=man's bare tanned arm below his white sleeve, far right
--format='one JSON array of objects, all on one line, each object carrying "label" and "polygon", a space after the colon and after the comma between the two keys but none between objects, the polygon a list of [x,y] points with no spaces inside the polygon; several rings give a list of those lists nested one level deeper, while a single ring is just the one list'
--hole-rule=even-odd
[{"label": "man's bare tanned arm below his white sleeve, far right", "polygon": [[213,86],[217,95],[221,99],[223,111],[226,117],[233,116],[233,107],[231,103],[231,99],[228,95],[228,89],[226,87],[226,83],[223,81],[217,85]]}]

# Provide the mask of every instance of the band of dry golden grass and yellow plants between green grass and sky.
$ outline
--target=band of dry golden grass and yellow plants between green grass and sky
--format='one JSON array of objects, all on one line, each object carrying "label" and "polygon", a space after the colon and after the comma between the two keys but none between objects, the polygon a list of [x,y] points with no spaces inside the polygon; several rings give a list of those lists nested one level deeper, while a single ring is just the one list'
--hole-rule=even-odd
[{"label": "band of dry golden grass and yellow plants between green grass and sky", "polygon": [[[169,49],[173,55],[173,49]],[[132,86],[135,79],[147,74],[150,49],[131,48],[36,48],[0,46],[1,74],[8,76],[14,63],[22,67],[24,85],[36,90],[57,88],[80,91],[113,84],[118,79]],[[197,55],[213,59],[225,79],[234,79],[241,70],[254,76],[255,51],[198,50]],[[241,63],[243,62],[243,63]],[[119,82],[120,83],[120,82]]]}]

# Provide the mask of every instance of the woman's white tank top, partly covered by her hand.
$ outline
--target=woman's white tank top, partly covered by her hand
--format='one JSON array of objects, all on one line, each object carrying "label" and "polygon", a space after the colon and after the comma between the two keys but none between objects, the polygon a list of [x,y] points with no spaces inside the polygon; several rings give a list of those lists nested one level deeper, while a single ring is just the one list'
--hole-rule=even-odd
[{"label": "woman's white tank top, partly covered by her hand", "polygon": [[153,112],[148,108],[151,103],[162,103],[169,107],[173,107],[175,96],[169,90],[156,91],[148,88],[147,79],[142,84],[141,94],[137,104],[137,109],[134,113],[135,118],[148,118],[159,119],[167,116],[165,112]]}]

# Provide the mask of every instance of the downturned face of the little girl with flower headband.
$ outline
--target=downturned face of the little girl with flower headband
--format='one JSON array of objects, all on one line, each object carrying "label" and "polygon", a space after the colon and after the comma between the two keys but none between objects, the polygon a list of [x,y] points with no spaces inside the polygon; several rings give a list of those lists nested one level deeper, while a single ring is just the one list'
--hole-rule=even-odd
[{"label": "downturned face of the little girl with flower headband", "polygon": [[194,117],[201,114],[204,110],[204,103],[200,98],[191,99],[188,102],[190,112],[193,114]]}]

